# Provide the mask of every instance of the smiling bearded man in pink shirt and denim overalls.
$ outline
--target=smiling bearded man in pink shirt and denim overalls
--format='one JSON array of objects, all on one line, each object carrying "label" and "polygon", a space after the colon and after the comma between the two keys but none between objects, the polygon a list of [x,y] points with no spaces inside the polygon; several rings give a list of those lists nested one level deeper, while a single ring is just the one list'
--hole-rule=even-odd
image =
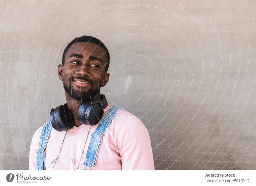
[{"label": "smiling bearded man in pink shirt and denim overalls", "polygon": [[[51,129],[51,122],[47,122],[44,126],[49,127],[48,136],[43,137],[47,134],[46,127],[38,128],[30,146],[30,170],[154,170],[148,131],[135,115],[117,109],[97,145],[94,144],[97,138],[92,134],[105,123],[99,121],[90,126],[81,124],[78,119],[79,106],[83,101],[101,97],[100,87],[109,80],[109,62],[108,49],[95,37],[78,37],[67,45],[62,65],[58,66],[58,75],[63,81],[74,126],[66,132],[59,132]],[[104,116],[112,107],[109,104],[103,107],[103,118],[107,118]],[[43,143],[44,148],[41,148]],[[94,163],[88,163],[87,158],[91,155]]]}]

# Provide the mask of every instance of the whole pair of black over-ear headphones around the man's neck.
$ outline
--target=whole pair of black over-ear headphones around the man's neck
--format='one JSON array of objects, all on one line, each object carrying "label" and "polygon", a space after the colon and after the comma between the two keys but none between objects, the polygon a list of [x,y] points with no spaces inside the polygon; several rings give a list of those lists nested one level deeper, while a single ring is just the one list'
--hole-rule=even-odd
[{"label": "whole pair of black over-ear headphones around the man's neck", "polygon": [[[108,106],[104,94],[99,100],[86,100],[81,103],[78,109],[78,120],[84,125],[96,125],[103,116],[103,109]],[[51,109],[50,121],[52,127],[57,131],[67,131],[74,126],[74,117],[68,104],[60,105],[56,109]]]}]

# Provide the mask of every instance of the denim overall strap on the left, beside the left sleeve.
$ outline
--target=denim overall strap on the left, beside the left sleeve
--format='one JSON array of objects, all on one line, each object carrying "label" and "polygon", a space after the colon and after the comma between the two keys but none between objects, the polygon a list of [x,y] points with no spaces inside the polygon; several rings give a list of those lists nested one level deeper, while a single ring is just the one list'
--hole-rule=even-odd
[{"label": "denim overall strap on the left, beside the left sleeve", "polygon": [[36,150],[36,170],[45,170],[45,148],[51,129],[51,121],[44,123],[39,139],[39,149]]}]

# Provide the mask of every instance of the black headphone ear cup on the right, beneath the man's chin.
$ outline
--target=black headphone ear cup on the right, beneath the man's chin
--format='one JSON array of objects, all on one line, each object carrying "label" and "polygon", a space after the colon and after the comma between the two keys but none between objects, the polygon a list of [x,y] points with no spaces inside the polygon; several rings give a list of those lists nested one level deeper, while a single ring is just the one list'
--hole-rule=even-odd
[{"label": "black headphone ear cup on the right, beneath the man's chin", "polygon": [[78,120],[85,125],[96,125],[103,116],[100,101],[82,102],[78,109]]}]

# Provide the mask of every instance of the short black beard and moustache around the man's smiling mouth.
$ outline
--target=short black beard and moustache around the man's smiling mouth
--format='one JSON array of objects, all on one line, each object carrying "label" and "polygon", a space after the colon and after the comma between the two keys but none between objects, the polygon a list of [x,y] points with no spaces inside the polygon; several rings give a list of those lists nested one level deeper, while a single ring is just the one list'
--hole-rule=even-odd
[{"label": "short black beard and moustache around the man's smiling mouth", "polygon": [[[80,90],[76,90],[74,89],[74,87],[72,86],[72,82],[74,79],[80,79],[80,80],[85,80],[85,81],[88,81],[90,84],[89,84],[89,91],[86,92],[86,91],[82,91],[82,89]],[[90,79],[87,79],[86,77],[70,77],[68,79],[69,81],[69,86],[67,84],[64,83],[64,80],[62,81],[63,82],[63,87],[64,87],[64,90],[73,98],[73,99],[76,99],[78,101],[85,101],[85,100],[91,100],[91,97],[94,97],[98,92],[100,92],[100,85],[99,87],[97,86],[94,86],[94,82]]]}]

